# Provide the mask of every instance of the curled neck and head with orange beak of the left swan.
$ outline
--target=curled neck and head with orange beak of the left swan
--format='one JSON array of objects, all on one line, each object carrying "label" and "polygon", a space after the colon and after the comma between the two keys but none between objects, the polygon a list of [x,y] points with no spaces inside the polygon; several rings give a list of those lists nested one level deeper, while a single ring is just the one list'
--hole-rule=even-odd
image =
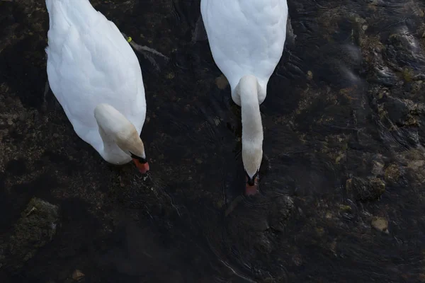
[{"label": "curled neck and head with orange beak of the left swan", "polygon": [[94,110],[99,133],[103,139],[115,143],[125,154],[131,156],[140,173],[149,171],[145,146],[134,125],[113,106],[101,103]]}]

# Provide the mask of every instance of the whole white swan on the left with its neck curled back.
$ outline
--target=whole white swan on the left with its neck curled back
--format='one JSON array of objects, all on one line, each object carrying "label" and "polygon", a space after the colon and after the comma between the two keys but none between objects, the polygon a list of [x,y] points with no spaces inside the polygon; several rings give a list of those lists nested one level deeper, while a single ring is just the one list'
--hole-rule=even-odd
[{"label": "whole white swan on the left with its neck curled back", "polygon": [[47,77],[78,136],[113,164],[149,171],[145,88],[135,53],[89,0],[46,0]]}]

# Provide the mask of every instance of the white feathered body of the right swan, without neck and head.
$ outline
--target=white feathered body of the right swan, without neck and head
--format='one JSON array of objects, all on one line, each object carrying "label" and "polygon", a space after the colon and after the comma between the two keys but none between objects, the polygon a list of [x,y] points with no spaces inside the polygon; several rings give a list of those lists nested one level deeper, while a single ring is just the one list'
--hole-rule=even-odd
[{"label": "white feathered body of the right swan, without neck and head", "polygon": [[[234,90],[242,76],[259,81],[259,103],[280,57],[286,37],[286,0],[202,0],[201,13],[212,57]],[[239,101],[238,101],[239,100]]]}]

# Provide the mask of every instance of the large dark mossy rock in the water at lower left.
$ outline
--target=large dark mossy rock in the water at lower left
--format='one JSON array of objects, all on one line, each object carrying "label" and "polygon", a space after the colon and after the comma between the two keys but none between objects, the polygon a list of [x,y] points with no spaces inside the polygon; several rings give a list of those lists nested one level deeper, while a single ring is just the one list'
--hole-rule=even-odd
[{"label": "large dark mossy rock in the water at lower left", "polygon": [[0,240],[0,268],[16,272],[38,249],[52,241],[59,222],[59,207],[33,198],[10,235]]}]

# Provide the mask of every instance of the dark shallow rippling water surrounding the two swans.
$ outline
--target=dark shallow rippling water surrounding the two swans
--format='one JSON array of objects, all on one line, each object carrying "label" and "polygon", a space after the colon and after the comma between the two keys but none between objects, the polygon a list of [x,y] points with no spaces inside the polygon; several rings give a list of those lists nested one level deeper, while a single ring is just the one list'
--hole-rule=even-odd
[{"label": "dark shallow rippling water surrounding the two swans", "polygon": [[44,1],[0,1],[0,245],[32,197],[60,207],[33,256],[0,252],[0,282],[425,282],[424,2],[288,3],[251,198],[199,2],[92,1],[170,58],[138,54],[145,180],[81,141],[51,93],[44,108]]}]

